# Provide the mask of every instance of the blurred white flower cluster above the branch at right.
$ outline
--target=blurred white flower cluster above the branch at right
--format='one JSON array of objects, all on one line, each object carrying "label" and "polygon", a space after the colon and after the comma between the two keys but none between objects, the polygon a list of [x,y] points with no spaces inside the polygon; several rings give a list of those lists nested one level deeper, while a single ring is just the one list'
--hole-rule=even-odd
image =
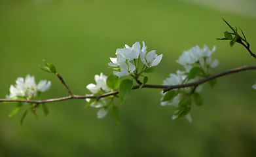
[{"label": "blurred white flower cluster above the branch at right", "polygon": [[218,60],[211,59],[211,54],[213,54],[215,50],[215,46],[210,50],[206,45],[204,45],[203,49],[200,49],[199,46],[196,45],[190,50],[184,51],[179,57],[179,60],[177,60],[177,63],[183,65],[187,72],[189,72],[196,63],[199,63],[200,67],[206,71],[209,67],[214,68],[219,64]]}]

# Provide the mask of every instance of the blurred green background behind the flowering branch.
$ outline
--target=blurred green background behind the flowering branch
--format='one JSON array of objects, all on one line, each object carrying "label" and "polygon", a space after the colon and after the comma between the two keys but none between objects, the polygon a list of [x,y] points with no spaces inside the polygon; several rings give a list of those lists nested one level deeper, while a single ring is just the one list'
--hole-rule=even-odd
[{"label": "blurred green background behind the flowering branch", "polygon": [[[256,16],[232,9],[235,4],[221,10],[171,0],[2,0],[0,97],[27,74],[37,82],[52,81],[45,99],[67,96],[60,81],[37,66],[43,59],[56,65],[74,94],[89,94],[85,86],[94,75],[111,73],[107,63],[115,50],[136,41],[164,56],[149,84],[162,84],[169,73],[183,70],[175,61],[196,44],[217,47],[213,58],[219,67],[212,73],[255,65],[242,46],[216,40],[229,29],[225,18],[242,27],[256,52]],[[192,106],[192,124],[172,121],[174,108],[160,106],[161,90],[154,89],[132,92],[120,106],[120,126],[109,115],[98,120],[98,109],[84,109],[83,99],[48,103],[48,116],[38,109],[38,118],[27,114],[23,126],[25,109],[9,118],[14,104],[1,103],[0,156],[255,156],[255,80],[255,71],[246,71],[220,78],[213,90],[206,84],[204,106]]]}]

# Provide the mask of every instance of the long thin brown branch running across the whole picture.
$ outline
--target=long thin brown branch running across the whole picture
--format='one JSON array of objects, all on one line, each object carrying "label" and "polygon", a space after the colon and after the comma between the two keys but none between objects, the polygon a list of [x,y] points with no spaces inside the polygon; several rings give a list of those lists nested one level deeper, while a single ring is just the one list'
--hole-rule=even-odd
[{"label": "long thin brown branch running across the whole picture", "polygon": [[[198,86],[199,84],[202,84],[204,82],[207,82],[208,80],[216,79],[218,77],[223,77],[224,75],[229,75],[232,73],[238,73],[240,71],[247,71],[247,70],[255,70],[256,66],[244,66],[244,67],[238,67],[235,69],[230,69],[227,71],[223,71],[222,73],[217,73],[214,75],[209,75],[208,77],[198,80],[196,82],[188,83],[188,84],[179,84],[175,86],[166,86],[166,85],[154,85],[154,84],[144,84],[142,88],[158,88],[158,89],[164,89],[164,92],[168,92],[169,90],[172,89],[177,89],[177,88],[185,88],[189,86]],[[139,88],[139,85],[133,86],[132,90],[136,90]],[[68,88],[67,88],[68,89]],[[69,91],[70,92],[70,91]],[[78,95],[70,95],[66,97],[59,97],[55,99],[45,99],[45,100],[19,100],[19,99],[0,99],[0,102],[26,102],[26,103],[50,103],[50,102],[55,102],[55,101],[64,101],[67,99],[100,99],[101,97],[107,97],[107,96],[113,96],[119,94],[118,90],[115,90],[114,92],[108,92],[106,94],[101,94],[98,96],[78,96]]]}]

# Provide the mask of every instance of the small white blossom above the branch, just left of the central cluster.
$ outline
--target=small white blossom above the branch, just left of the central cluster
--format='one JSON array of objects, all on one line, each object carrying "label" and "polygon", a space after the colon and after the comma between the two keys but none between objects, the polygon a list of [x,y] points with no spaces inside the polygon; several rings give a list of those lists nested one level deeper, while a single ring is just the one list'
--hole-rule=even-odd
[{"label": "small white blossom above the branch, just left of the central cluster", "polygon": [[86,88],[90,90],[93,94],[98,93],[100,90],[103,90],[105,92],[109,92],[110,88],[107,86],[106,80],[107,76],[103,75],[103,73],[100,73],[100,75],[95,75],[94,80],[96,84],[88,84]]}]

